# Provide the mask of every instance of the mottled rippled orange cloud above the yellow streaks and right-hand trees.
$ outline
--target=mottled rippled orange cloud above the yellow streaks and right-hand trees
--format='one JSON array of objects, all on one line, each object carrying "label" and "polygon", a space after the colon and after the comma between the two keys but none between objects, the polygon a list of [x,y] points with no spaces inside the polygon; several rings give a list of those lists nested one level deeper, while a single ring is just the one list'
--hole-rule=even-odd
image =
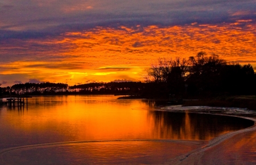
[{"label": "mottled rippled orange cloud above the yellow streaks and right-hand trees", "polygon": [[[101,28],[64,36],[75,44],[67,54],[76,54],[99,67],[111,65],[149,66],[159,57],[189,57],[204,50],[219,54],[228,61],[254,60],[255,35],[253,26],[208,24],[141,29]],[[72,35],[72,38],[70,37]],[[76,36],[76,37],[74,37]],[[175,53],[174,53],[175,52]]]}]

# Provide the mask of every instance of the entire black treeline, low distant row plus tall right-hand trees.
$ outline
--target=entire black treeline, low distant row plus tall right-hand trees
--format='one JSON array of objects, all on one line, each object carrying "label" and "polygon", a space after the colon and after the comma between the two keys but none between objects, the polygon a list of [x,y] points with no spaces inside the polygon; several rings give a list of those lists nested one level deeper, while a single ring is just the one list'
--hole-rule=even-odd
[{"label": "entire black treeline, low distant row plus tall right-hand trees", "polygon": [[8,94],[126,94],[143,98],[209,97],[220,95],[256,95],[256,74],[250,64],[229,64],[216,54],[151,64],[145,82],[99,82],[68,86],[65,83],[24,83],[0,88]]}]

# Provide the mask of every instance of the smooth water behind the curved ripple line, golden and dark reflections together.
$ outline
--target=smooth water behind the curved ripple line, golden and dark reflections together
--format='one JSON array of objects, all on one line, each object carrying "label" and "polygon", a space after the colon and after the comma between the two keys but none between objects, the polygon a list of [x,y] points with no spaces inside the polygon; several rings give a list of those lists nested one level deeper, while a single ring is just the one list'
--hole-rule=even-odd
[{"label": "smooth water behind the curved ripple line, golden and dark reflections together", "polygon": [[116,96],[34,97],[22,112],[2,109],[0,122],[7,135],[26,135],[32,139],[30,143],[94,139],[209,140],[249,125],[245,119],[234,117],[154,111],[147,101],[117,100]]}]

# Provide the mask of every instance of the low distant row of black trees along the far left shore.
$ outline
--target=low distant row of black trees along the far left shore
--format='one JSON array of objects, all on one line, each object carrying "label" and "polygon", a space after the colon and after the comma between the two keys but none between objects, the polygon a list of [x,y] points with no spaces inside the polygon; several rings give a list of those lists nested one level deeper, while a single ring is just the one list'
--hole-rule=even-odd
[{"label": "low distant row of black trees along the far left shore", "polygon": [[66,83],[24,83],[2,88],[3,95],[55,94],[138,94],[144,88],[141,82],[100,82],[68,86]]}]

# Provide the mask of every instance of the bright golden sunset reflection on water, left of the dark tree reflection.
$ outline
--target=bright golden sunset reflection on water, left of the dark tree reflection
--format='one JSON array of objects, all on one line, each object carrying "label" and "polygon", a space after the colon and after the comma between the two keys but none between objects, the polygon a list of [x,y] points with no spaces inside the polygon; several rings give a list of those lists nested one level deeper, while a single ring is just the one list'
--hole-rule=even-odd
[{"label": "bright golden sunset reflection on water, left of the dark tree reflection", "polygon": [[[110,99],[109,99],[110,98]],[[113,96],[32,98],[28,110],[3,111],[1,121],[13,132],[38,135],[45,142],[150,138],[145,103]],[[133,110],[137,108],[139,110]],[[8,134],[12,134],[9,132]],[[40,137],[43,136],[43,137]]]}]

